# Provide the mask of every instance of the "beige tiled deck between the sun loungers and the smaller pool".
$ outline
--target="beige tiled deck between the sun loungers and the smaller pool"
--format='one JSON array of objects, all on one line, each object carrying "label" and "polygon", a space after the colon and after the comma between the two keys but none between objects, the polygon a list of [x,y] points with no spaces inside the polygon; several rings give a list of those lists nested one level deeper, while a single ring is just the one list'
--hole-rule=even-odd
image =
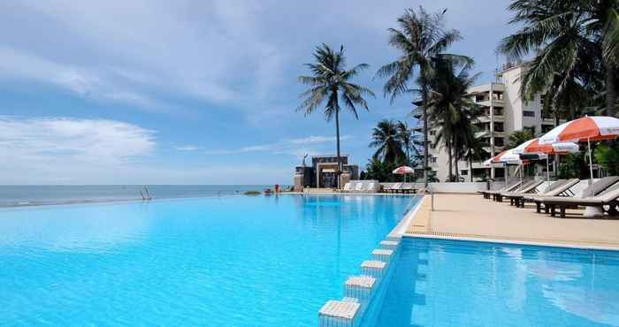
[{"label": "beige tiled deck between the sun loungers and the smaller pool", "polygon": [[493,202],[478,194],[435,194],[434,211],[428,195],[407,232],[619,249],[619,220],[582,218],[581,213],[582,210],[568,210],[569,217],[557,218],[536,213],[534,204],[519,209],[509,202]]}]

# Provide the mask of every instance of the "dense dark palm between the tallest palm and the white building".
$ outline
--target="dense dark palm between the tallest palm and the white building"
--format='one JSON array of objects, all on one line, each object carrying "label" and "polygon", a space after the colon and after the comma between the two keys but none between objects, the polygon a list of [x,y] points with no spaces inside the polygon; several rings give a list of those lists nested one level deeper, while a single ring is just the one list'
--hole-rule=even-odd
[{"label": "dense dark palm between the tallest palm and the white building", "polygon": [[[481,114],[468,93],[478,75],[470,76],[473,60],[465,59],[455,61],[452,57],[439,57],[434,60],[434,76],[430,83],[428,108],[432,125],[438,128],[434,146],[447,148],[450,179],[453,176],[459,179],[458,160],[467,150],[464,140]],[[454,161],[455,174],[452,173]]]}]

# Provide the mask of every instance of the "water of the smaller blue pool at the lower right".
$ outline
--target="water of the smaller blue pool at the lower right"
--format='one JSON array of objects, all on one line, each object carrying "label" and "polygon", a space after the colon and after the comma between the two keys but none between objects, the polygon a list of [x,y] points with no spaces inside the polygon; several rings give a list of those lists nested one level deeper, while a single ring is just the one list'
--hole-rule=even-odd
[{"label": "water of the smaller blue pool at the lower right", "polygon": [[378,326],[617,326],[619,252],[405,239]]}]

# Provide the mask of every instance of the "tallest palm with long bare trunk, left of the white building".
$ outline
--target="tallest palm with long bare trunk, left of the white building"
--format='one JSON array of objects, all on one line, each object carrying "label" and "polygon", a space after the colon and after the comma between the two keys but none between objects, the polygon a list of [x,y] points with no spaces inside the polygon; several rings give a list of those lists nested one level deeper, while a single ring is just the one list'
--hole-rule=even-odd
[{"label": "tallest palm with long bare trunk, left of the white building", "polygon": [[461,39],[456,30],[446,30],[442,13],[428,13],[423,7],[417,11],[408,9],[396,21],[399,28],[389,28],[389,45],[398,49],[401,56],[394,62],[382,66],[377,76],[386,78],[383,87],[385,95],[394,99],[409,93],[410,84],[415,81],[421,88],[424,110],[424,186],[428,186],[428,83],[432,71],[432,59],[443,54],[449,46]]}]

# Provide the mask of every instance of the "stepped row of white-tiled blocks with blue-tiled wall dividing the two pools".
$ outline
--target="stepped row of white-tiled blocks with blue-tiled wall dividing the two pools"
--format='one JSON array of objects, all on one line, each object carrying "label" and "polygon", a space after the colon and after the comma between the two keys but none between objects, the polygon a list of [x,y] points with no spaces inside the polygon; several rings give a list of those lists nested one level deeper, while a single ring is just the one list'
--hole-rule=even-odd
[{"label": "stepped row of white-tiled blocks with blue-tiled wall dividing the two pools", "polygon": [[344,298],[328,300],[318,312],[319,327],[358,327],[371,325],[386,293],[391,267],[398,255],[401,236],[390,234],[372,251],[372,259],[361,264],[361,274],[351,276],[344,285]]}]

